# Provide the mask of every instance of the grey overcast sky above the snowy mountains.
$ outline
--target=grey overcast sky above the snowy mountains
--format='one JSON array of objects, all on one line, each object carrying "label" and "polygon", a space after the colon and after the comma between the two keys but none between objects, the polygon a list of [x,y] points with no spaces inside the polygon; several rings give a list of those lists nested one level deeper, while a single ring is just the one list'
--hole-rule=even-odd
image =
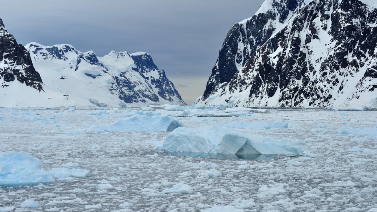
[{"label": "grey overcast sky above the snowy mountains", "polygon": [[71,44],[98,56],[149,53],[187,104],[202,95],[225,35],[264,0],[0,0],[19,44]]}]

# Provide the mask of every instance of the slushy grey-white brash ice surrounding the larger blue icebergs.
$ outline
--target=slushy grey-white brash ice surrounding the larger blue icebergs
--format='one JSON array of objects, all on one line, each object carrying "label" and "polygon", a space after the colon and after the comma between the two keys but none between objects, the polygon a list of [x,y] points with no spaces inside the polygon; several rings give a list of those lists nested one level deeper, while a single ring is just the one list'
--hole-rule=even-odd
[{"label": "slushy grey-white brash ice surrounding the larger blue icebergs", "polygon": [[[303,140],[308,150],[302,157],[178,157],[154,150],[169,135],[165,131],[67,133],[115,123],[130,113],[127,109],[91,114],[98,111],[0,108],[1,152],[27,152],[46,171],[89,171],[87,177],[55,178],[54,183],[0,186],[0,211],[376,211],[377,137],[369,131],[337,132],[375,129],[376,111],[347,111],[346,116],[323,109],[269,111],[175,119],[187,128],[287,123],[287,128],[238,130]],[[31,201],[40,208],[32,208]]]}]

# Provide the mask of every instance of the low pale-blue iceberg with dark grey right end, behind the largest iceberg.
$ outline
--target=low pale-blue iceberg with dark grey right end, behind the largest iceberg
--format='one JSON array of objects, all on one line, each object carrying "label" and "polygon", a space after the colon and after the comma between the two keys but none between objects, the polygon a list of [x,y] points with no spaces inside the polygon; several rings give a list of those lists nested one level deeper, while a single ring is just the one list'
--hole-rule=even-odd
[{"label": "low pale-blue iceberg with dark grey right end, behind the largest iceberg", "polygon": [[133,115],[131,117],[123,118],[107,125],[92,126],[92,129],[98,132],[101,131],[161,131],[170,132],[175,128],[183,126],[181,121],[175,120],[168,116],[147,116],[147,115]]}]

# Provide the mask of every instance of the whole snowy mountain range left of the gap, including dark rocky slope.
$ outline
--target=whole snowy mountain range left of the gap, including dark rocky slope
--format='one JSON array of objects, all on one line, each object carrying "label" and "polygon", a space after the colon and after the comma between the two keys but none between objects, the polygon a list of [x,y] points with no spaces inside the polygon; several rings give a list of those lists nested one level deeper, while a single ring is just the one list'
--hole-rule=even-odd
[{"label": "whole snowy mountain range left of the gap, including dark rocky slope", "polygon": [[98,57],[71,45],[18,45],[0,19],[0,106],[185,105],[146,52]]}]

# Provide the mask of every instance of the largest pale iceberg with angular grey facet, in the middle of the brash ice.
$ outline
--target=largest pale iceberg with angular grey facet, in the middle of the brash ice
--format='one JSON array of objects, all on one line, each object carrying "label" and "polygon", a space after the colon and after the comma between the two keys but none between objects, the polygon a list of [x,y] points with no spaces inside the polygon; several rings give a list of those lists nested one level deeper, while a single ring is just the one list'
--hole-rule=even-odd
[{"label": "largest pale iceberg with angular grey facet, in the middle of the brash ice", "polygon": [[156,146],[156,150],[208,154],[300,155],[308,146],[302,140],[275,140],[222,126],[178,128]]}]

